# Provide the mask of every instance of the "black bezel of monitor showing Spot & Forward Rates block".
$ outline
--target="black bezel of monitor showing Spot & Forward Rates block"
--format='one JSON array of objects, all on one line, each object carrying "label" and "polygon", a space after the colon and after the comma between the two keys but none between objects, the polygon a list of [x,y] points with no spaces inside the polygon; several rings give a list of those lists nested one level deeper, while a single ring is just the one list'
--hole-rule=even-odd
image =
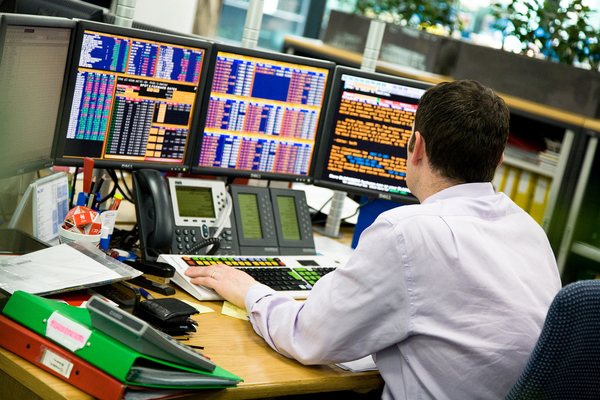
[{"label": "black bezel of monitor showing Spot & Forward Rates block", "polygon": [[[107,159],[94,159],[94,166],[96,168],[106,169],[123,169],[123,170],[138,170],[143,168],[151,168],[162,172],[189,172],[189,158],[190,154],[194,149],[194,142],[196,132],[198,130],[198,124],[200,122],[200,111],[202,108],[202,100],[204,98],[204,88],[206,84],[206,76],[208,71],[209,60],[211,57],[213,43],[207,40],[193,39],[186,36],[171,35],[162,32],[146,31],[136,28],[127,28],[116,25],[110,25],[100,22],[91,22],[80,20],[77,22],[77,32],[75,34],[75,40],[73,45],[73,57],[71,59],[71,68],[69,71],[69,77],[67,79],[66,96],[64,99],[64,109],[61,118],[60,129],[57,130],[57,134],[54,140],[54,159],[56,165],[81,167],[83,166],[83,158],[68,157],[64,156],[64,146],[67,141],[66,131],[68,129],[69,117],[71,113],[71,104],[73,103],[74,89],[77,79],[77,70],[79,64],[79,51],[83,42],[83,36],[85,31],[94,31],[100,33],[107,33],[111,35],[134,37],[142,40],[153,40],[164,43],[171,43],[179,46],[188,46],[200,48],[205,51],[204,60],[202,62],[202,69],[200,72],[200,80],[198,82],[198,90],[196,95],[196,101],[194,104],[194,111],[192,112],[192,122],[190,124],[188,143],[186,152],[181,163],[161,163],[151,161],[121,161],[121,160],[107,160]],[[77,53],[77,54],[75,54]]]}]

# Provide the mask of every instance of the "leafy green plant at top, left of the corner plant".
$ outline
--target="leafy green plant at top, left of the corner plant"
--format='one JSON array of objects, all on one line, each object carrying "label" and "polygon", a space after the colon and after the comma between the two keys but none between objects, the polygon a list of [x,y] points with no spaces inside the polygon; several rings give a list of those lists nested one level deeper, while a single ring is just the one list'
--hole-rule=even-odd
[{"label": "leafy green plant at top, left of the corner plant", "polygon": [[413,28],[442,26],[452,33],[460,30],[458,0],[345,0],[354,2],[355,11]]}]

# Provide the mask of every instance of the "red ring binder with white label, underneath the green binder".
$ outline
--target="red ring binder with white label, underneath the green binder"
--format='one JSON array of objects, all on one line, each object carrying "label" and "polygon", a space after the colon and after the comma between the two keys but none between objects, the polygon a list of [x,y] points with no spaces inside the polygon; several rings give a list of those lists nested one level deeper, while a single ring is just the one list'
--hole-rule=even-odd
[{"label": "red ring binder with white label, underneath the green binder", "polygon": [[99,400],[120,400],[125,392],[124,383],[3,315],[0,346]]}]

